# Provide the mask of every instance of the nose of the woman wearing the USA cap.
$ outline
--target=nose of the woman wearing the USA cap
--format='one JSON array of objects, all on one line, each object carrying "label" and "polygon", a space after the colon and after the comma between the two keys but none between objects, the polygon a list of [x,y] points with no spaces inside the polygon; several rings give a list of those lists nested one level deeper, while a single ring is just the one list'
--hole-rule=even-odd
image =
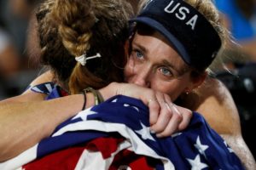
[{"label": "nose of the woman wearing the USA cap", "polygon": [[151,67],[149,65],[143,65],[134,69],[135,77],[133,79],[133,83],[145,88],[150,88],[150,72]]}]

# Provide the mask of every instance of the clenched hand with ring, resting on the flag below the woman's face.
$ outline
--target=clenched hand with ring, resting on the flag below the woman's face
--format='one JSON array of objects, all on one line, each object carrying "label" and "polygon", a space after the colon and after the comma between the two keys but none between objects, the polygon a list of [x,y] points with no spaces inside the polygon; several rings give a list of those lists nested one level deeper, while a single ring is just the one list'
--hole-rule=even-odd
[{"label": "clenched hand with ring, resting on the flag below the woman's face", "polygon": [[[116,94],[141,99],[149,108],[149,122],[152,132],[158,137],[170,136],[183,130],[189,125],[192,111],[175,105],[169,95],[156,92],[150,88],[143,88],[136,84],[112,82],[101,93],[104,99]],[[106,95],[108,94],[106,97]]]}]

